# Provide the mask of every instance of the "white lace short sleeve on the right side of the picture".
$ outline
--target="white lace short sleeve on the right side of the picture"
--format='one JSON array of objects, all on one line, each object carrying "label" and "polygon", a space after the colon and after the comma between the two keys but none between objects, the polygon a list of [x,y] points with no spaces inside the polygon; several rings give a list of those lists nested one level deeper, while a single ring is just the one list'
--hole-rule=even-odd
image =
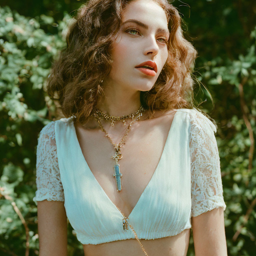
[{"label": "white lace short sleeve on the right side of the picture", "polygon": [[191,114],[191,216],[215,208],[226,209],[220,172],[220,157],[215,125],[197,110]]}]

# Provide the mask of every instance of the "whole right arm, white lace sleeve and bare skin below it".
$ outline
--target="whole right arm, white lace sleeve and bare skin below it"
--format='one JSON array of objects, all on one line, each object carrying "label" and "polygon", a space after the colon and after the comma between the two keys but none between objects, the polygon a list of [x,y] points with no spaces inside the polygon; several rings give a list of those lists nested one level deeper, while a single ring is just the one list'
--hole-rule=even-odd
[{"label": "whole right arm, white lace sleeve and bare skin below it", "polygon": [[227,256],[220,157],[213,124],[201,113],[191,125],[190,159],[195,255]]}]

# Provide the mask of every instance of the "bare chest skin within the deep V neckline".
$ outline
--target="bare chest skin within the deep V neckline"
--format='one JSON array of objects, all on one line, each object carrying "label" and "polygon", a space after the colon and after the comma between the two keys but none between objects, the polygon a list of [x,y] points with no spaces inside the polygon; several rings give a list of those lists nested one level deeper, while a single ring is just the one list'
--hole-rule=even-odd
[{"label": "bare chest skin within the deep V neckline", "polygon": [[[115,149],[109,138],[101,129],[86,130],[80,126],[76,127],[77,139],[89,167],[88,171],[92,172],[95,182],[99,183],[116,206],[123,209],[126,216],[132,212],[154,172],[157,171],[173,118],[174,114],[169,114],[132,126],[121,148],[123,157],[118,161],[122,173],[121,191],[117,191],[116,179],[113,177],[116,161],[111,157],[115,154]],[[110,137],[113,142],[119,143],[122,136]]]}]

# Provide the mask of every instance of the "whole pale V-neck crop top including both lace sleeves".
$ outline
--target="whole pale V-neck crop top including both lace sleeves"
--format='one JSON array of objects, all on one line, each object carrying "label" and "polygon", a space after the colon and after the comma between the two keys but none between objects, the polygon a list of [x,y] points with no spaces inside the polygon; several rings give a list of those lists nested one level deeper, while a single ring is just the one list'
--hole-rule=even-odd
[{"label": "whole pale V-neck crop top including both lace sleeves", "polygon": [[[175,236],[195,217],[226,204],[216,127],[196,109],[174,115],[157,168],[129,216],[139,239]],[[67,218],[82,244],[134,238],[123,215],[89,169],[70,118],[40,132],[34,202],[64,201]],[[161,187],[161,189],[159,189]]]}]

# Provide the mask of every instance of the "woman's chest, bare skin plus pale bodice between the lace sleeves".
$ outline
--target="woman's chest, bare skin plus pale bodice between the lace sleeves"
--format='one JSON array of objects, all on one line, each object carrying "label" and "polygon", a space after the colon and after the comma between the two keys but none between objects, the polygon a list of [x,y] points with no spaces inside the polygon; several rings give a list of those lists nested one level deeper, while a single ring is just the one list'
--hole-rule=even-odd
[{"label": "woman's chest, bare skin plus pale bodice between the lace sleeves", "polygon": [[[79,133],[70,119],[56,122],[64,206],[81,243],[134,238],[131,229],[124,232],[117,207],[139,239],[172,236],[191,226],[188,131],[188,116],[181,111],[174,119],[131,129],[118,161],[123,174],[118,192],[111,158],[115,151],[107,137],[100,138],[103,132]],[[111,138],[118,143],[122,136]]]}]

